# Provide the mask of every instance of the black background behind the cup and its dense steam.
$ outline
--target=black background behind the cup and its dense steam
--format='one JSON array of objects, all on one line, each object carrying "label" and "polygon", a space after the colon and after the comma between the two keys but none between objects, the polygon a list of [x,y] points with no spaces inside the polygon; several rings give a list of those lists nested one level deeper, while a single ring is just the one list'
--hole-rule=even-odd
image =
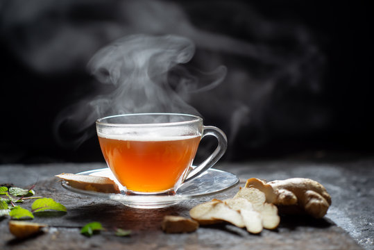
[{"label": "black background behind the cup and its dense steam", "polygon": [[86,65],[135,33],[194,41],[187,69],[227,67],[219,86],[185,97],[227,133],[226,160],[371,153],[372,14],[365,1],[2,0],[0,163],[101,161],[94,136],[78,146],[84,132],[56,135],[53,124],[71,104],[110,91]]}]

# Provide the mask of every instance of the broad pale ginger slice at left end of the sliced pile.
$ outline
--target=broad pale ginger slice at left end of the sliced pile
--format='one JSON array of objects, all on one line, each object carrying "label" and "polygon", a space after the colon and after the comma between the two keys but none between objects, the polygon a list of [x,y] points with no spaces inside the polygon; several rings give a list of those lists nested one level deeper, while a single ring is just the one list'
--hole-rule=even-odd
[{"label": "broad pale ginger slice at left end of the sliced pile", "polygon": [[217,199],[195,206],[189,210],[189,215],[201,225],[225,221],[238,227],[245,226],[237,210],[231,209],[224,201]]}]

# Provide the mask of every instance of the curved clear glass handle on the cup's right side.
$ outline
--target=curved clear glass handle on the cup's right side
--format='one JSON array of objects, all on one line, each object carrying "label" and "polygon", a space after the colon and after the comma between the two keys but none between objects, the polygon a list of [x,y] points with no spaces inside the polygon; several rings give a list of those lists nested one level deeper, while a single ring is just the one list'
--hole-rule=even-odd
[{"label": "curved clear glass handle on the cup's right side", "polygon": [[214,164],[223,156],[226,152],[228,147],[228,140],[226,138],[225,133],[221,131],[221,129],[216,128],[215,126],[203,126],[203,133],[201,134],[201,138],[205,137],[205,135],[213,135],[218,140],[218,146],[214,150],[214,152],[201,163],[197,167],[194,167],[187,178],[183,183],[187,183],[188,181],[192,181],[194,178],[203,174],[203,172],[207,171],[213,167]]}]

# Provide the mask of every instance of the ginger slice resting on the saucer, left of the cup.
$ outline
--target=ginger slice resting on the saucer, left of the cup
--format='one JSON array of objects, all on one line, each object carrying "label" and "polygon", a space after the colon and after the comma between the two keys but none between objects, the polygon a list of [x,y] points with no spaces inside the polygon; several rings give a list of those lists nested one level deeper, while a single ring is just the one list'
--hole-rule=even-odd
[{"label": "ginger slice resting on the saucer, left of the cup", "polygon": [[119,188],[114,181],[108,177],[102,176],[84,176],[80,174],[58,174],[58,178],[62,178],[67,181],[67,184],[72,188],[77,188],[80,190],[88,190],[95,192],[104,192],[104,193],[116,193],[118,194]]}]

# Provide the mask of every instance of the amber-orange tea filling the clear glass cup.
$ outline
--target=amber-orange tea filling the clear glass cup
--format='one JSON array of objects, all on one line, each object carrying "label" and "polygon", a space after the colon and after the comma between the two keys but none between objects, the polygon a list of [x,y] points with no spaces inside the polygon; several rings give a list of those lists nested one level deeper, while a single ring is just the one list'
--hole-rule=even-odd
[{"label": "amber-orange tea filling the clear glass cup", "polygon": [[99,134],[103,156],[119,183],[132,192],[174,190],[192,165],[200,136],[121,138]]}]

